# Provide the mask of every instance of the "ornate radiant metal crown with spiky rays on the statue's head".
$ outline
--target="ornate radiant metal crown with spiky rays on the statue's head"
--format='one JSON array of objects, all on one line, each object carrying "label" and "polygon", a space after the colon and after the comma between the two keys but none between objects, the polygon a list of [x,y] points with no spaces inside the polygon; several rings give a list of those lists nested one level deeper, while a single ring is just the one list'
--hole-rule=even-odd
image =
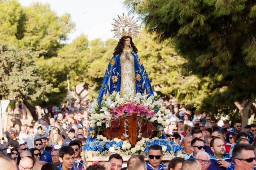
[{"label": "ornate radiant metal crown with spiky rays on the statue's head", "polygon": [[130,36],[132,39],[138,38],[138,34],[140,32],[140,26],[137,25],[138,21],[133,20],[134,17],[130,17],[129,14],[127,16],[119,16],[117,19],[114,19],[113,29],[114,38],[117,37],[121,39],[124,36]]}]

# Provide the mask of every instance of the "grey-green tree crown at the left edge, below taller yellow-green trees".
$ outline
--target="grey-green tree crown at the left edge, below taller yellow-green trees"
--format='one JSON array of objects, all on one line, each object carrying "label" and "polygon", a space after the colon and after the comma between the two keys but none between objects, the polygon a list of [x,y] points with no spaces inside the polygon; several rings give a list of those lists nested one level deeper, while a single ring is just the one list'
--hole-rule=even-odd
[{"label": "grey-green tree crown at the left edge, below taller yellow-green trees", "polygon": [[48,100],[45,92],[51,84],[44,82],[32,57],[43,51],[0,44],[0,99],[20,97],[26,100]]}]

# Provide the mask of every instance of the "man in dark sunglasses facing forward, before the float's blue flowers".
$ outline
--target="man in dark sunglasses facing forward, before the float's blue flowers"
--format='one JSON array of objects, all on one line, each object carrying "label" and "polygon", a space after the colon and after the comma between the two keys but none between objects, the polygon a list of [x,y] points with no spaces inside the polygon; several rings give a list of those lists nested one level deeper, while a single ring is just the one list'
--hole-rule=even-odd
[{"label": "man in dark sunglasses facing forward, before the float's blue flowers", "polygon": [[146,162],[147,170],[163,170],[164,164],[161,163],[162,158],[162,147],[159,145],[151,145],[148,148],[148,162]]}]

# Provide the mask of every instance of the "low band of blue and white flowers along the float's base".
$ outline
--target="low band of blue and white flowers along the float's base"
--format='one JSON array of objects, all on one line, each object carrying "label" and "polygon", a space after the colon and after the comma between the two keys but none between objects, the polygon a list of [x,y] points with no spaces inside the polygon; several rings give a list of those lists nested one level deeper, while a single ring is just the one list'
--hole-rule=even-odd
[{"label": "low band of blue and white flowers along the float's base", "polygon": [[146,156],[148,154],[148,148],[150,145],[160,145],[162,147],[164,156],[178,156],[181,154],[180,145],[166,139],[159,139],[157,137],[152,139],[142,138],[134,147],[132,147],[128,140],[121,141],[118,138],[108,140],[106,137],[98,135],[94,141],[84,145],[82,155],[84,158],[87,158],[87,152],[90,150],[94,156],[109,156],[112,153],[119,153],[122,156],[136,154]]}]

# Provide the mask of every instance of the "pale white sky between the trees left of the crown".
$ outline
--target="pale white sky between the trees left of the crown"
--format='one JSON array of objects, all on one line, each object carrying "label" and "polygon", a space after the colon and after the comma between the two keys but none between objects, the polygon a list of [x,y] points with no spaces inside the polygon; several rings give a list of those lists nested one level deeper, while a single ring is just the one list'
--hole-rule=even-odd
[{"label": "pale white sky between the trees left of the crown", "polygon": [[113,38],[114,34],[111,32],[113,19],[117,18],[118,14],[128,14],[123,0],[18,0],[18,2],[24,7],[33,2],[48,3],[58,16],[64,13],[71,14],[76,28],[69,34],[67,43],[81,33],[87,35],[89,40],[100,38],[105,41]]}]

